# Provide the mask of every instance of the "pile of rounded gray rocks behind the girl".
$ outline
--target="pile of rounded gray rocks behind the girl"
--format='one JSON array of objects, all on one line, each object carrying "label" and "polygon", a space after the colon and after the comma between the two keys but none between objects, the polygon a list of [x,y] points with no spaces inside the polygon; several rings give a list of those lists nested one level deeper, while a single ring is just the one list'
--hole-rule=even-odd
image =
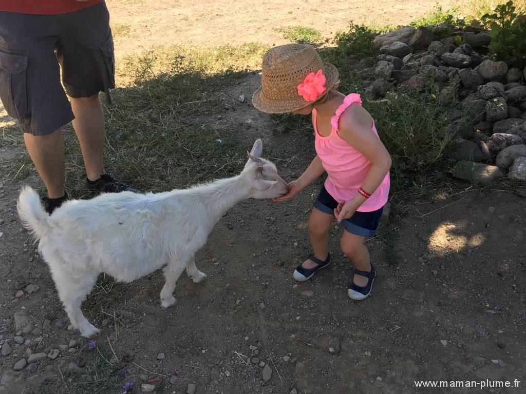
[{"label": "pile of rounded gray rocks behind the girl", "polygon": [[379,98],[397,86],[419,87],[433,78],[444,106],[451,105],[448,98],[459,101],[454,110],[444,107],[458,134],[454,175],[472,182],[505,174],[526,181],[526,67],[491,60],[487,30],[445,28],[453,33],[440,40],[426,27],[377,36],[380,55],[366,91]]}]

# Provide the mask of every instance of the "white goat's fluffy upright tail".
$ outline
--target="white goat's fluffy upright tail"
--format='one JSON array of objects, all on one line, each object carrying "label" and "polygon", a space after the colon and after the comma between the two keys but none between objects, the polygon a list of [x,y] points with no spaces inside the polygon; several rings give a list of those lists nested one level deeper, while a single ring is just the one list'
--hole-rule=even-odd
[{"label": "white goat's fluffy upright tail", "polygon": [[16,208],[24,227],[31,231],[37,239],[41,239],[49,231],[50,227],[47,222],[49,215],[44,210],[38,194],[31,186],[22,187]]}]

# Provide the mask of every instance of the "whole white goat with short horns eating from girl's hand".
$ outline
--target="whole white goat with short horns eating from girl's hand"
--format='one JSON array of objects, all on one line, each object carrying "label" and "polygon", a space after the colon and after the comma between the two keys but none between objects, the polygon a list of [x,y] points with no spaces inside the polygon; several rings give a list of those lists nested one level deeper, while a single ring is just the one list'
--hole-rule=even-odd
[{"label": "whole white goat with short horns eating from girl's hand", "polygon": [[194,255],[221,216],[241,200],[275,198],[287,190],[276,165],[261,159],[262,148],[257,140],[244,170],[234,178],[164,193],[72,200],[52,215],[37,193],[24,186],[18,215],[40,240],[39,250],[73,326],[88,338],[100,334],[80,310],[100,273],[131,282],[164,266],[163,308],[175,303],[175,283],[185,268],[194,283],[206,279]]}]

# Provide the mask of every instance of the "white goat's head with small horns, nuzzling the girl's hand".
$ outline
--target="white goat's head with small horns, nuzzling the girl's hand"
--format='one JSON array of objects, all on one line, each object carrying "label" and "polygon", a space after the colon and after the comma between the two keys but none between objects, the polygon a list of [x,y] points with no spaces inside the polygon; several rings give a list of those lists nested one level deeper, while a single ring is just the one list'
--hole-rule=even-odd
[{"label": "white goat's head with small horns, nuzzling the girl's hand", "polygon": [[287,192],[287,183],[278,175],[276,165],[261,158],[263,142],[256,140],[248,153],[248,161],[241,172],[251,186],[250,197],[255,199],[273,199]]}]

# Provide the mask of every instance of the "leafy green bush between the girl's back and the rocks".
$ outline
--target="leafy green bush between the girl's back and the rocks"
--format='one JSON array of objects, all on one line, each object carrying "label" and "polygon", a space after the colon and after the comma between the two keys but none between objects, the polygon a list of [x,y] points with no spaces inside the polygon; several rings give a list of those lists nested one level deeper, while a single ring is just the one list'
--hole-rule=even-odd
[{"label": "leafy green bush between the girl's back and the rocks", "polygon": [[427,180],[448,172],[448,152],[456,139],[449,119],[454,100],[444,107],[432,78],[421,88],[400,87],[386,99],[381,105],[364,100],[363,106],[391,154],[392,189],[422,191]]}]

